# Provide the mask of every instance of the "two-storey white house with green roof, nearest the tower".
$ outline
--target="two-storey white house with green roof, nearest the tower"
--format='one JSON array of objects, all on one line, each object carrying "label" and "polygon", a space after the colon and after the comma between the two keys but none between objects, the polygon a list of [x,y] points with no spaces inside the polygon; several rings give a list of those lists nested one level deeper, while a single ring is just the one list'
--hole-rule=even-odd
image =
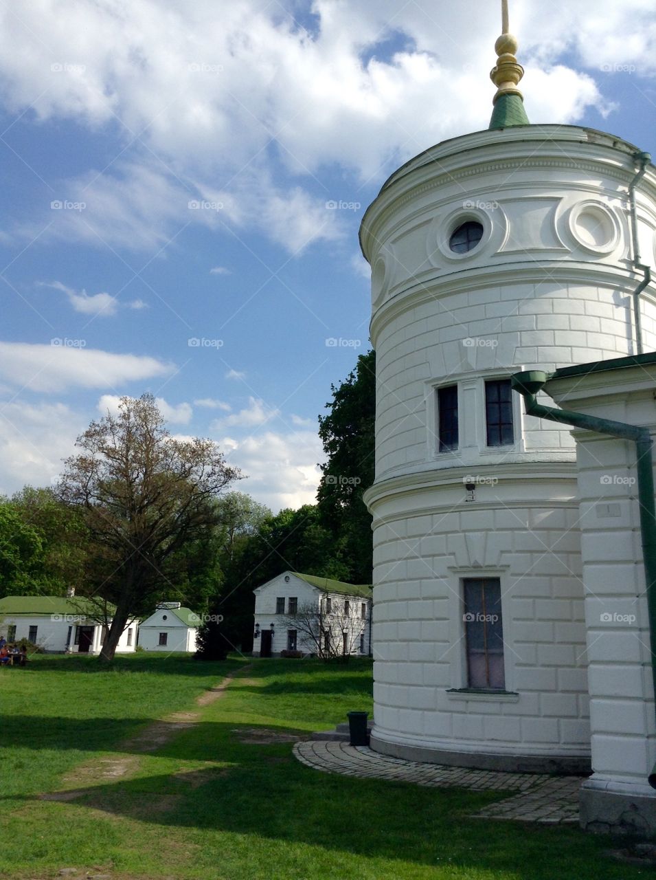
[{"label": "two-storey white house with green roof, nearest the tower", "polygon": [[255,593],[253,654],[371,653],[371,585],[283,571]]}]

